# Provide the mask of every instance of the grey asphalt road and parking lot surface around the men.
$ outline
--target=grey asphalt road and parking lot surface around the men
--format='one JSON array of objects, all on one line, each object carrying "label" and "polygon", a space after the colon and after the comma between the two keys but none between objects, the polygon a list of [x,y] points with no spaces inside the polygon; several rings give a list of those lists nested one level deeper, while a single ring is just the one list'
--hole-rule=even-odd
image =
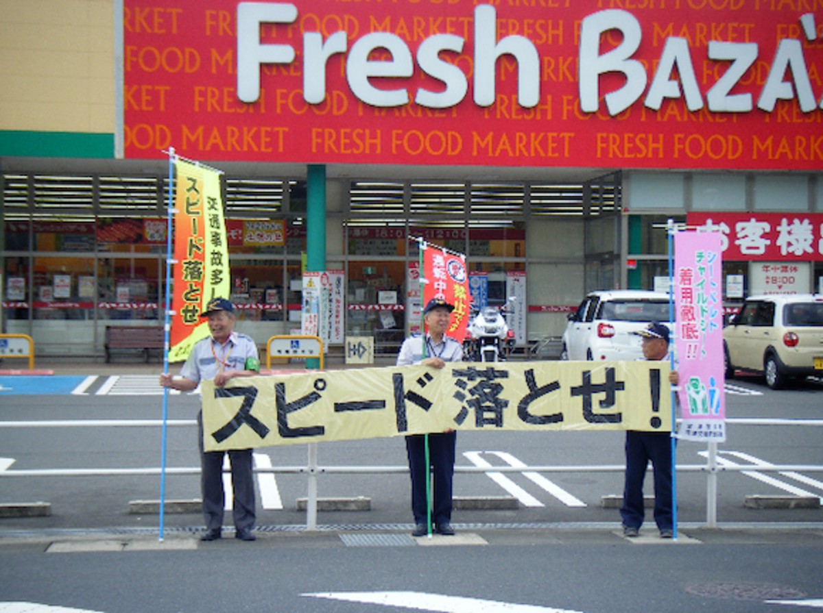
[{"label": "grey asphalt road and parking lot surface around the men", "polygon": [[[84,396],[2,397],[2,420],[160,417],[160,396],[114,395],[117,385],[96,394],[105,383],[95,381]],[[821,418],[821,385],[773,392],[754,378],[732,384],[740,389],[727,396],[728,417]],[[141,385],[146,391],[149,381]],[[197,398],[174,396],[169,417],[190,419],[197,408]],[[820,465],[821,433],[820,427],[730,425],[721,457]],[[151,427],[0,429],[0,456],[14,459],[9,471],[157,467],[159,439]],[[168,449],[170,467],[197,466],[192,427],[170,428]],[[703,463],[704,451],[704,445],[681,442],[678,463]],[[275,466],[305,466],[307,459],[303,445],[260,453]],[[622,436],[458,436],[458,466],[479,460],[502,466],[512,459],[532,467],[620,465]],[[401,439],[320,445],[319,463],[402,467],[405,450]],[[263,508],[261,499],[253,543],[198,542],[198,514],[166,514],[159,542],[156,515],[128,514],[128,501],[159,497],[156,476],[0,477],[0,503],[46,500],[53,508],[50,517],[0,519],[0,611],[733,613],[823,607],[823,510],[743,507],[746,495],[786,495],[786,488],[823,495],[820,472],[724,472],[719,529],[703,525],[705,475],[681,472],[677,542],[664,542],[653,530],[636,541],[621,536],[616,509],[601,507],[603,495],[621,492],[620,472],[543,473],[551,491],[523,472],[504,476],[537,505],[523,497],[518,509],[458,510],[457,537],[420,540],[408,536],[402,473],[323,474],[320,496],[367,496],[371,509],[321,512],[318,532],[303,531],[305,513],[295,509],[306,495],[306,477],[278,474],[282,509]],[[483,474],[458,474],[455,484],[461,496],[512,495]],[[168,499],[198,498],[198,478],[170,476],[166,489]]]}]

